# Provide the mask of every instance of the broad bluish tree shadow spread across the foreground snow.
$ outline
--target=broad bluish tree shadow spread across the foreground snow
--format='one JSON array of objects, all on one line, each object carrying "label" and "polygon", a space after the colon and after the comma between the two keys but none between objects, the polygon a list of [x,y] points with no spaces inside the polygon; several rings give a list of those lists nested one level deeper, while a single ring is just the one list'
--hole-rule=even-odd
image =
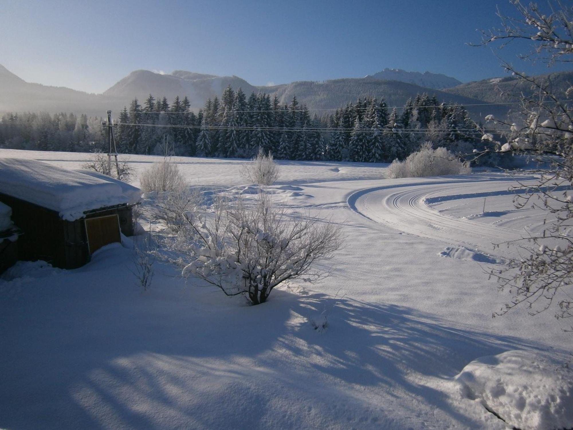
[{"label": "broad bluish tree shadow spread across the foreground snow", "polygon": [[[219,292],[181,303],[152,294],[117,304],[93,296],[82,306],[48,291],[6,310],[14,325],[2,335],[0,427],[327,428],[364,410],[356,387],[406,392],[479,427],[411,376],[452,377],[483,355],[546,349],[407,307],[323,294],[276,291],[254,307],[221,305]],[[308,317],[325,309],[319,333]],[[372,427],[394,422],[383,405],[368,414]]]}]

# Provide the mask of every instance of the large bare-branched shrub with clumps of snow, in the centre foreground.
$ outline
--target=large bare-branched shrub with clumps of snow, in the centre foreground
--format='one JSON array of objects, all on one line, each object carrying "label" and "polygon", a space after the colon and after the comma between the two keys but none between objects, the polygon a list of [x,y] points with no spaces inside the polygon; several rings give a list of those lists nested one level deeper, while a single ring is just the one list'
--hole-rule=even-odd
[{"label": "large bare-branched shrub with clumps of snow, in the centre foreground", "polygon": [[186,255],[182,275],[195,275],[227,296],[266,302],[289,279],[316,281],[329,275],[315,263],[342,246],[340,227],[309,216],[293,218],[260,193],[252,204],[215,199],[209,209],[186,212],[172,248]]}]

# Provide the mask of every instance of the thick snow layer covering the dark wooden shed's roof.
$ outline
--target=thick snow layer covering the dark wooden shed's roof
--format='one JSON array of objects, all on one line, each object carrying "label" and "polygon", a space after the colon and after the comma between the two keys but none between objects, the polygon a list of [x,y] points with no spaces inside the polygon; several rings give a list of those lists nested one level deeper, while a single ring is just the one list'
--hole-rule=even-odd
[{"label": "thick snow layer covering the dark wooden shed's roof", "polygon": [[134,190],[125,194],[117,182],[32,159],[0,158],[1,193],[55,210],[67,221],[84,217],[88,210],[139,201]]}]

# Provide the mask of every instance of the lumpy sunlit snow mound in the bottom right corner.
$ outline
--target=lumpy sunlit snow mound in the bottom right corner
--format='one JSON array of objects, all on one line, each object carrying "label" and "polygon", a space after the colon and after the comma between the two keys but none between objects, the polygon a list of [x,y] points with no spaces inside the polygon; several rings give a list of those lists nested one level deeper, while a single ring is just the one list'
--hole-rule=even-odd
[{"label": "lumpy sunlit snow mound in the bottom right corner", "polygon": [[568,357],[507,351],[478,358],[456,380],[509,425],[522,430],[573,428],[573,370]]}]

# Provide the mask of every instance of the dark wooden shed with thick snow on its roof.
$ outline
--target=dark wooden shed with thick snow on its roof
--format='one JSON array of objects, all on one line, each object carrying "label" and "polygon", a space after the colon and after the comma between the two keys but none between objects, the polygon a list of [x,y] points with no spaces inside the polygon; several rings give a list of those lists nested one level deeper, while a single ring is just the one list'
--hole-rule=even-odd
[{"label": "dark wooden shed with thick snow on its roof", "polygon": [[86,170],[36,160],[0,158],[0,202],[22,230],[18,260],[44,260],[76,268],[93,252],[132,236],[132,208],[141,191]]}]

